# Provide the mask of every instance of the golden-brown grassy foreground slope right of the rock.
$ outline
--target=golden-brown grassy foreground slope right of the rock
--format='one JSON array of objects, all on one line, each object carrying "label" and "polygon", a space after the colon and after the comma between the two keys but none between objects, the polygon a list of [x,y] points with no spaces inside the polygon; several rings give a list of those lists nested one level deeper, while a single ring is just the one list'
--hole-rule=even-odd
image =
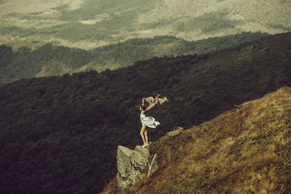
[{"label": "golden-brown grassy foreground slope right of the rock", "polygon": [[288,193],[290,118],[291,88],[284,87],[180,135],[165,135],[150,147],[159,170],[126,193]]}]

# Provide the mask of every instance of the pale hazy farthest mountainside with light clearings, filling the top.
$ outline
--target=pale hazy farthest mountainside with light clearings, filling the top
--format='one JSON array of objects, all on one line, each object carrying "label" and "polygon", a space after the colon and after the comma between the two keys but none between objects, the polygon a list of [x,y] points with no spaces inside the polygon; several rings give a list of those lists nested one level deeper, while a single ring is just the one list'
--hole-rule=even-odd
[{"label": "pale hazy farthest mountainside with light clearings, filling the top", "polygon": [[191,41],[275,34],[291,31],[290,13],[290,0],[9,0],[0,3],[0,41],[41,39],[93,49],[157,35]]}]

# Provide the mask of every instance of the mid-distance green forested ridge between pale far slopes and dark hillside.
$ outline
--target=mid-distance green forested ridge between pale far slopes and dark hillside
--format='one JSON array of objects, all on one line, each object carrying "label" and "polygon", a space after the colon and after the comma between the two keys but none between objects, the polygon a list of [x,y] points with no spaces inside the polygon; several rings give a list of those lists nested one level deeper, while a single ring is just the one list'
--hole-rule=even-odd
[{"label": "mid-distance green forested ridge between pale far slopes and dark hillside", "polygon": [[[154,56],[200,54],[225,49],[267,36],[261,32],[242,32],[200,41],[185,41],[174,36],[131,39],[123,43],[84,50],[55,46],[52,43],[20,41],[0,46],[0,81],[62,75],[89,70],[117,69]],[[24,47],[24,45],[29,45]],[[37,45],[40,44],[39,48]]]}]

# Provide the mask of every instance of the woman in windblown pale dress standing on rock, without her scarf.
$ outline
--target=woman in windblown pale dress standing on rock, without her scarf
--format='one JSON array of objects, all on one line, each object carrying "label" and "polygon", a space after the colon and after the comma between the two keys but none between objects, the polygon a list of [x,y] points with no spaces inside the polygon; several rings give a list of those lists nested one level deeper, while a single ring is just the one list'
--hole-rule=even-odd
[{"label": "woman in windblown pale dress standing on rock, without her scarf", "polygon": [[[158,125],[160,125],[160,123],[157,122],[155,120],[155,118],[153,118],[151,116],[146,116],[147,109],[146,109],[146,106],[144,105],[144,99],[143,99],[143,105],[140,106],[140,110],[141,110],[140,119],[141,119],[141,122],[143,124],[143,127],[141,129],[140,134],[141,134],[142,139],[144,141],[143,147],[146,147],[146,146],[148,146],[146,127],[156,128]],[[146,137],[146,139],[145,139],[145,137]]]}]

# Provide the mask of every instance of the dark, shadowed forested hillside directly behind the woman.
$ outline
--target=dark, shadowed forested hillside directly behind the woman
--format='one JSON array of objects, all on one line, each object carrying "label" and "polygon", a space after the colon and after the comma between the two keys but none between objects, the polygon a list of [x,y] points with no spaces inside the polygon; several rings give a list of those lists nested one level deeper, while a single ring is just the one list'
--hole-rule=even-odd
[{"label": "dark, shadowed forested hillside directly behind the woman", "polygon": [[291,86],[291,33],[202,55],[154,57],[117,70],[14,81],[0,87],[0,193],[97,193],[116,176],[116,148],[189,129],[234,105]]}]

